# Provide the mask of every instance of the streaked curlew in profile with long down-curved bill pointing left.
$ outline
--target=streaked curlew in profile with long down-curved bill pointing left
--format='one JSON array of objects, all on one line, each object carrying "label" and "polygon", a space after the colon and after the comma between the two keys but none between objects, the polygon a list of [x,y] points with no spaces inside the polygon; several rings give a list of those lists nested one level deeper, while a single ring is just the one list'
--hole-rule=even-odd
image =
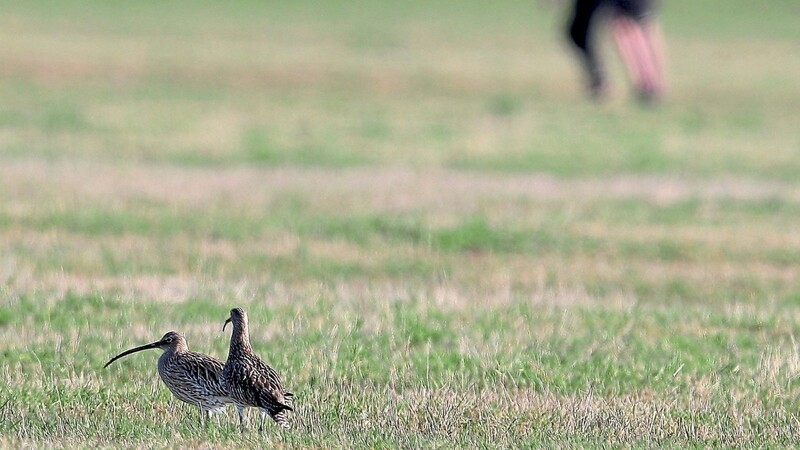
[{"label": "streaked curlew in profile with long down-curved bill pointing left", "polygon": [[170,331],[160,340],[126,350],[111,358],[103,368],[131,353],[160,348],[164,351],[158,358],[158,375],[178,400],[200,408],[200,421],[212,412],[223,412],[226,403],[231,403],[222,386],[224,364],[217,358],[189,351],[186,339]]}]

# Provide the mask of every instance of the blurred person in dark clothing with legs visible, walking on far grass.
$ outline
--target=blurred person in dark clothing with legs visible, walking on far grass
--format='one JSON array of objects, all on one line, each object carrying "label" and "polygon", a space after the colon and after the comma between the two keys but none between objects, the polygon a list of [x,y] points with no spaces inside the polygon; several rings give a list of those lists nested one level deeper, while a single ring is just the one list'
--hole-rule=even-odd
[{"label": "blurred person in dark clothing with legs visible, walking on far grass", "polygon": [[661,29],[654,16],[655,1],[574,1],[568,23],[569,38],[578,50],[592,97],[603,97],[608,88],[595,42],[597,16],[604,12],[609,14],[614,42],[639,99],[653,102],[663,95],[663,48]]}]

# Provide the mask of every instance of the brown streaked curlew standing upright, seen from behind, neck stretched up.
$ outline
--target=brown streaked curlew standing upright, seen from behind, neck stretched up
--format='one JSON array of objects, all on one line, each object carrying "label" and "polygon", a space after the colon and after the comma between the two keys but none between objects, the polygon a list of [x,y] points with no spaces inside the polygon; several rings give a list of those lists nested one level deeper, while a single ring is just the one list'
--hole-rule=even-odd
[{"label": "brown streaked curlew standing upright, seen from behind, neck stretched up", "polygon": [[247,313],[241,308],[232,309],[222,326],[223,331],[228,323],[233,324],[233,333],[222,371],[222,385],[239,412],[239,425],[244,429],[244,408],[250,406],[261,410],[259,430],[263,430],[267,415],[283,428],[289,428],[286,411],[292,411],[294,395],[284,389],[275,369],[253,353]]}]

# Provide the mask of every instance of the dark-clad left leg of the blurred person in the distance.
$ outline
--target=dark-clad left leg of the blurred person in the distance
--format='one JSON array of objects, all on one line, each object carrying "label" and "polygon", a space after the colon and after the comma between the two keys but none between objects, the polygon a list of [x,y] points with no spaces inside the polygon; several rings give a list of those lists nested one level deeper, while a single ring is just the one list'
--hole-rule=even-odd
[{"label": "dark-clad left leg of the blurred person in the distance", "polygon": [[575,0],[567,24],[569,39],[578,50],[593,96],[602,95],[605,87],[603,68],[597,56],[592,33],[592,20],[602,2],[603,0]]}]

